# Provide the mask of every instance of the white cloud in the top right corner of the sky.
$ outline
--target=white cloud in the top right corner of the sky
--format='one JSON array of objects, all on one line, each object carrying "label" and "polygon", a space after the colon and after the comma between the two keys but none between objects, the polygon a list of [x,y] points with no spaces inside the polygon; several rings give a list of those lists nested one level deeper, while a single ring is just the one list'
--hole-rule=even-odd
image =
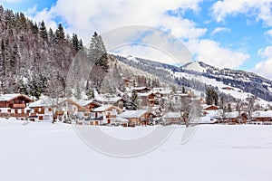
[{"label": "white cloud in the top right corner of the sky", "polygon": [[256,21],[272,25],[272,0],[223,0],[211,7],[213,16],[218,22],[223,22],[228,15],[246,14],[255,16]]}]

